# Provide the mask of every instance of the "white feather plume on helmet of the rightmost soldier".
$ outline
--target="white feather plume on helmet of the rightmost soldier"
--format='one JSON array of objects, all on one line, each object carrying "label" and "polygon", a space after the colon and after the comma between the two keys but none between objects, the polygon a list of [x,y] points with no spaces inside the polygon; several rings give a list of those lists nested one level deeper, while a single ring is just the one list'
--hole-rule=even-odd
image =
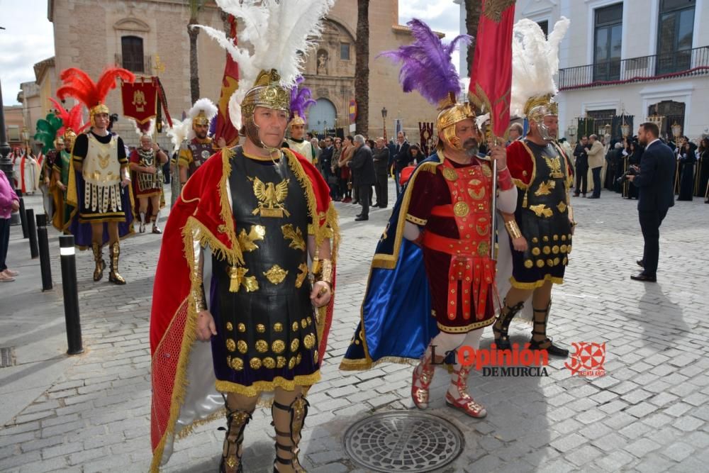
[{"label": "white feather plume on helmet of the rightmost soldier", "polygon": [[515,23],[512,35],[512,99],[510,113],[524,115],[524,106],[532,96],[557,94],[554,74],[559,70],[559,43],[569,29],[569,19],[562,16],[545,38],[542,28],[524,18]]}]

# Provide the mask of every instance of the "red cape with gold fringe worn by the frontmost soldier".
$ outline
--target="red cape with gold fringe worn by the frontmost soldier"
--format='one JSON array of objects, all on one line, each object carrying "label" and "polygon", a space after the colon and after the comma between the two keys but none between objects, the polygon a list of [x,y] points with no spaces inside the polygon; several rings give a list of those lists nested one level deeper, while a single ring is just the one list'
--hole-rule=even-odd
[{"label": "red cape with gold fringe worn by the frontmost soldier", "polygon": [[[313,215],[316,242],[331,238],[333,247],[333,289],[335,257],[339,244],[337,213],[330,201],[330,188],[305,157],[284,149],[289,165],[306,189]],[[152,355],[151,471],[157,471],[165,442],[175,434],[174,427],[184,400],[189,352],[196,340],[196,313],[189,302],[190,267],[186,255],[191,252],[193,235],[202,245],[209,245],[219,257],[230,262],[241,260],[235,222],[228,202],[226,186],[231,172],[230,152],[221,150],[210,157],[182,188],[182,194],[170,211],[162,236],[160,260],[150,315],[150,352]],[[314,194],[314,202],[313,200]],[[317,225],[315,223],[318,223]],[[196,233],[195,233],[196,232]],[[325,353],[332,323],[334,297],[321,308],[318,324],[320,353]],[[321,357],[321,359],[323,359]]]}]

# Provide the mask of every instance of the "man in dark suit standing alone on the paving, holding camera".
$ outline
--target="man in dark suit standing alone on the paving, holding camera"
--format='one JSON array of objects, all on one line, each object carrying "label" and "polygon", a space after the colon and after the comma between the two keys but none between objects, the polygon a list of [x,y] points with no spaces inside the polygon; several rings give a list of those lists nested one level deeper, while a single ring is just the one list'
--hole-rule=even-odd
[{"label": "man in dark suit standing alone on the paving, holding camera", "polygon": [[642,162],[637,175],[628,176],[632,184],[640,189],[637,200],[637,213],[640,218],[642,238],[645,240],[642,260],[637,264],[643,267],[640,274],[633,274],[630,279],[636,281],[657,281],[657,260],[659,259],[660,225],[667,211],[674,206],[674,167],[675,158],[671,148],[659,138],[659,128],[652,122],[641,123],[637,140],[644,145]]}]

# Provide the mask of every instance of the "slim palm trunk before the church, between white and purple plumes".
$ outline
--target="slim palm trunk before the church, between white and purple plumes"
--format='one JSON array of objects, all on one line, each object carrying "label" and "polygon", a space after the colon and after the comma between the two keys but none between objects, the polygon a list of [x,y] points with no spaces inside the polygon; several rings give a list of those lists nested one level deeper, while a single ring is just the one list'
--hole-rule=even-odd
[{"label": "slim palm trunk before the church, between white and purple plumes", "polygon": [[354,100],[357,133],[369,133],[369,0],[357,0],[357,40],[354,42]]}]

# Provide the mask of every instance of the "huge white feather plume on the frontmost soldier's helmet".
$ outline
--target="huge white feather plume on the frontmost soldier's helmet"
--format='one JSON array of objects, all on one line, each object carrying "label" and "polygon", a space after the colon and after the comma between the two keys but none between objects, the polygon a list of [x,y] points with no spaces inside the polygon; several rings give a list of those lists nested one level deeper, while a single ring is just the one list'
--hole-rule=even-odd
[{"label": "huge white feather plume on the frontmost soldier's helmet", "polygon": [[239,45],[234,45],[223,31],[196,27],[202,28],[238,62],[240,79],[238,89],[229,99],[229,117],[236,128],[241,128],[241,103],[259,72],[276,69],[281,74],[281,87],[293,87],[305,56],[323,31],[323,17],[335,0],[216,0],[216,3],[244,25]]}]

